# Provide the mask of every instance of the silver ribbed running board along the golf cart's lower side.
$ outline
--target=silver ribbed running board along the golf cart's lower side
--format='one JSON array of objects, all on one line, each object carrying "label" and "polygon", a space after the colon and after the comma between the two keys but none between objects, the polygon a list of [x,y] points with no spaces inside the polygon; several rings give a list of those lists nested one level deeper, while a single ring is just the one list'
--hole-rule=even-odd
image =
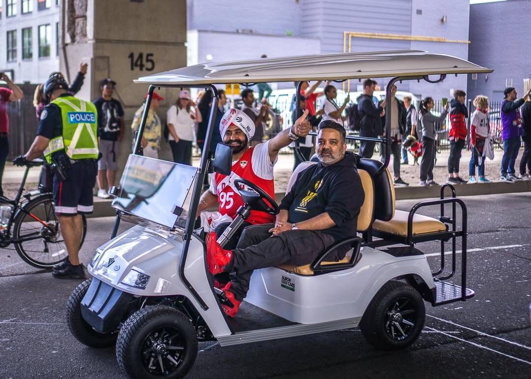
[{"label": "silver ribbed running board along the golf cart's lower side", "polygon": [[276,340],[279,338],[297,337],[297,335],[307,335],[333,330],[356,328],[361,317],[346,318],[345,320],[322,322],[319,324],[296,324],[289,326],[280,326],[279,328],[251,330],[248,332],[239,332],[231,335],[218,337],[220,346],[231,346],[242,343],[260,342]]}]

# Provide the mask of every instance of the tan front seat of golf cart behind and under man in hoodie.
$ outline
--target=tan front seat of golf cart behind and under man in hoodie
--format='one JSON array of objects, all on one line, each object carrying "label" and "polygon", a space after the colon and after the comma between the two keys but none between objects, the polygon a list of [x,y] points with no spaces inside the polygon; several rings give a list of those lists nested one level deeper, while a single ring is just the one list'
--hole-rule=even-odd
[{"label": "tan front seat of golf cart behind and under man in hoodie", "polygon": [[[297,179],[297,175],[301,173],[304,169],[310,167],[311,165],[315,165],[315,162],[312,161],[306,161],[300,163],[297,168],[293,171],[292,176],[289,178],[289,182],[287,185],[286,193],[291,190],[293,184],[295,183],[295,180]],[[357,223],[357,230],[360,232],[366,231],[370,228],[371,223],[374,221],[374,183],[371,178],[371,175],[363,169],[358,168],[358,174],[359,178],[362,181],[362,187],[363,191],[365,193],[365,200],[361,206],[361,209],[359,210],[358,215],[358,223]],[[350,252],[349,252],[350,253]],[[347,265],[352,259],[352,255],[347,253],[344,259],[341,261],[334,261],[334,262],[328,262],[324,261],[321,262],[321,266],[327,266],[331,264],[345,264]],[[282,264],[278,266],[278,268],[293,272],[299,275],[313,275],[315,272],[311,268],[311,264],[306,264],[304,266],[295,266],[291,264]]]}]

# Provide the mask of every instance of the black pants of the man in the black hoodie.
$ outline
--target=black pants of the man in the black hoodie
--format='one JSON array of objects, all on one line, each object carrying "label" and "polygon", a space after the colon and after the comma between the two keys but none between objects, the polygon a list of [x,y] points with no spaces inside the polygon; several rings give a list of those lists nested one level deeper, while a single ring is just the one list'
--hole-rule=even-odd
[{"label": "black pants of the man in the black hoodie", "polygon": [[[253,270],[280,264],[302,266],[312,263],[335,242],[331,235],[313,230],[288,230],[271,236],[268,230],[273,226],[270,223],[245,228],[238,247],[233,250],[233,259],[225,271],[231,272],[230,289],[236,300],[241,301],[247,295]],[[327,261],[340,260],[336,252],[330,255]]]}]

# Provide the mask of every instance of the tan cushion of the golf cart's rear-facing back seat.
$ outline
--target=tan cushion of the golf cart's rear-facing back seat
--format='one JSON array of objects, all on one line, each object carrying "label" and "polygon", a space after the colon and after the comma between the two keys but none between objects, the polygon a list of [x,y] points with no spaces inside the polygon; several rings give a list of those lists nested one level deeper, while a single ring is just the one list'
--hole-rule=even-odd
[{"label": "tan cushion of the golf cart's rear-facing back seat", "polygon": [[[372,228],[397,236],[407,237],[407,218],[409,212],[395,210],[395,217],[389,221],[374,220]],[[446,225],[432,217],[415,214],[413,216],[413,235],[446,231]]]}]

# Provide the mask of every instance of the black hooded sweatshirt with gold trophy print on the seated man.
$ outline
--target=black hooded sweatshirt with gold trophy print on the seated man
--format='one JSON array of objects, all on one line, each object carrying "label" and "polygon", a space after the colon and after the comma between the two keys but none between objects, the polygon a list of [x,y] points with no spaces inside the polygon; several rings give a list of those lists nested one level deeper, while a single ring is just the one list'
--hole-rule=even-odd
[{"label": "black hooded sweatshirt with gold trophy print on the seated man", "polygon": [[[320,231],[339,240],[356,236],[359,209],[364,199],[356,156],[347,151],[343,159],[331,166],[319,162],[299,173],[292,189],[282,199],[280,209],[288,211],[290,223],[327,212],[336,225]],[[340,259],[345,252],[339,254]]]}]

